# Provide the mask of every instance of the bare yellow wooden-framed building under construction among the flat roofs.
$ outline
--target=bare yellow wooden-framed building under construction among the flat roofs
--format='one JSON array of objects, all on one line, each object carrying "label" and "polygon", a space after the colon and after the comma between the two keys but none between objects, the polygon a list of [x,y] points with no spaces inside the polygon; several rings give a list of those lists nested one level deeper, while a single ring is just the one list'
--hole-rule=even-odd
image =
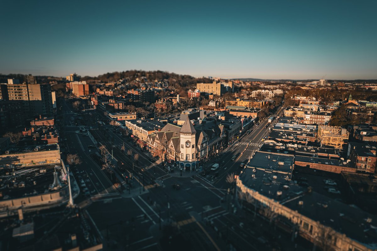
[{"label": "bare yellow wooden-framed building under construction among the flat roofs", "polygon": [[318,126],[318,141],[325,146],[334,146],[342,149],[343,144],[348,142],[349,132],[340,126]]}]

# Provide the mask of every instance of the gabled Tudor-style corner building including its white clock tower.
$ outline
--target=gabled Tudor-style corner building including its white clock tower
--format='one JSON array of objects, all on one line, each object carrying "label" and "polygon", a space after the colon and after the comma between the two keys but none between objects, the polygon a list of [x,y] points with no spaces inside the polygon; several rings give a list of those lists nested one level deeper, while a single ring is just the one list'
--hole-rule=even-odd
[{"label": "gabled Tudor-style corner building including its white clock tower", "polygon": [[148,135],[149,150],[158,148],[168,160],[186,171],[195,170],[199,161],[218,154],[223,149],[225,130],[217,120],[200,121],[196,126],[187,117],[182,127],[167,124],[161,131]]}]

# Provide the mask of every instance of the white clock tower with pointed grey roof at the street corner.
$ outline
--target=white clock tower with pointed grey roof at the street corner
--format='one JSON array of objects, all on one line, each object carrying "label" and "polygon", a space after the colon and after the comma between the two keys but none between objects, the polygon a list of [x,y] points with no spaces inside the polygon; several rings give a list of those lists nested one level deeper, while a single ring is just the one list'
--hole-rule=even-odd
[{"label": "white clock tower with pointed grey roof at the street corner", "polygon": [[180,164],[184,170],[192,170],[196,167],[196,142],[195,142],[195,134],[196,130],[192,125],[189,117],[183,123],[180,133]]}]

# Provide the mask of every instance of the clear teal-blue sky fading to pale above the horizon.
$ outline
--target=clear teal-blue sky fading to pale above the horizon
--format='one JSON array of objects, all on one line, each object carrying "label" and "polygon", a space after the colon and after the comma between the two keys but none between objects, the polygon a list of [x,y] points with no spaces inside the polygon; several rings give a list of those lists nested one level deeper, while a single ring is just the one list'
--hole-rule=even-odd
[{"label": "clear teal-blue sky fading to pale above the horizon", "polygon": [[377,79],[377,1],[1,1],[0,73]]}]

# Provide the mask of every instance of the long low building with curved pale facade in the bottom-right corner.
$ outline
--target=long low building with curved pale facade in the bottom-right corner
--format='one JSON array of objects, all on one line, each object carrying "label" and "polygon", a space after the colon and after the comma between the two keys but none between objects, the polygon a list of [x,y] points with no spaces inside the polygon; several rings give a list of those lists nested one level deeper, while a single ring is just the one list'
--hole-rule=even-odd
[{"label": "long low building with curved pale facade in the bottom-right corner", "polygon": [[372,222],[377,218],[360,208],[298,186],[286,173],[271,170],[245,168],[236,184],[241,198],[250,196],[254,210],[293,238],[298,234],[326,250],[375,250]]}]

